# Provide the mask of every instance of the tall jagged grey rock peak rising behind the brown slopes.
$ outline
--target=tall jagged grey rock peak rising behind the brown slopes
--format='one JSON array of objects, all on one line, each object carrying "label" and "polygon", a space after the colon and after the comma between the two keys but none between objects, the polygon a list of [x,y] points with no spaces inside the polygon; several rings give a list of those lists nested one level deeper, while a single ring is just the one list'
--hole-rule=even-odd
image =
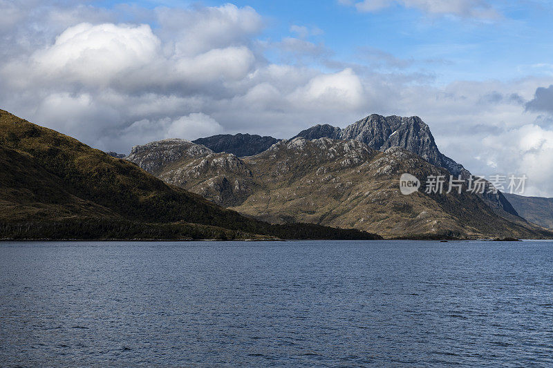
[{"label": "tall jagged grey rock peak rising behind the brown slopes", "polygon": [[[325,125],[316,125],[302,130],[295,137],[316,139],[328,137],[331,139],[357,140],[378,151],[391,147],[401,147],[411,151],[434,166],[445,168],[452,175],[460,175],[467,180],[471,173],[461,164],[442,154],[435,144],[430,128],[420,117],[399,117],[369,115],[364,119],[350,124],[344,129]],[[294,137],[294,138],[295,138]],[[292,138],[293,139],[293,138]],[[487,184],[489,187],[489,183]],[[486,191],[487,192],[487,191]],[[518,216],[515,209],[502,193],[484,193],[480,195],[492,209],[510,215]]]}]

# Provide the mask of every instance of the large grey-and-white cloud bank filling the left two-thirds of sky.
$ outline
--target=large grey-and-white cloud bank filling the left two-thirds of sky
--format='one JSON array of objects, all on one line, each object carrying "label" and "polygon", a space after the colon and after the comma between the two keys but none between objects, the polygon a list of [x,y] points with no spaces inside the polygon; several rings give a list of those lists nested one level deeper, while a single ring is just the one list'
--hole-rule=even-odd
[{"label": "large grey-and-white cloud bank filling the left two-thirds of sky", "polygon": [[[43,11],[45,19],[54,18]],[[120,152],[138,142],[184,134],[175,124],[194,113],[216,122],[205,124],[211,127],[206,135],[224,130],[279,136],[323,116],[359,113],[353,110],[361,106],[364,89],[353,70],[322,73],[266,61],[252,39],[263,28],[252,8],[158,8],[153,16],[155,29],[145,23],[68,21],[40,46],[0,61],[4,107]],[[320,32],[309,28],[308,33]],[[326,52],[293,37],[270,47],[296,57]],[[260,119],[265,124],[258,124]],[[190,135],[195,131],[200,130],[191,129]]]}]

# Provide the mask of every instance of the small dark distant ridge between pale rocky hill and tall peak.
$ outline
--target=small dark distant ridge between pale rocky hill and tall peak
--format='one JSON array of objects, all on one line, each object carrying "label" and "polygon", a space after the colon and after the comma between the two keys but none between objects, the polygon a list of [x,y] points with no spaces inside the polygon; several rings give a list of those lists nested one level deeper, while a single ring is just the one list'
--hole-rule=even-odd
[{"label": "small dark distant ridge between pale rocky hill and tall peak", "polygon": [[238,157],[256,155],[277,143],[279,139],[238,133],[236,135],[220,134],[212,137],[200,138],[193,141],[202,144],[215,153],[227,152]]}]

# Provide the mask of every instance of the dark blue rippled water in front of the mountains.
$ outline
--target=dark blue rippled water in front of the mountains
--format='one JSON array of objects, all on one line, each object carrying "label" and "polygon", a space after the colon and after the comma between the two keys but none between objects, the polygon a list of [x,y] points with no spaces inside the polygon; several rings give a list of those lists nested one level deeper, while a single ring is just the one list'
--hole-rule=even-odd
[{"label": "dark blue rippled water in front of the mountains", "polygon": [[0,365],[549,366],[553,242],[0,243]]}]

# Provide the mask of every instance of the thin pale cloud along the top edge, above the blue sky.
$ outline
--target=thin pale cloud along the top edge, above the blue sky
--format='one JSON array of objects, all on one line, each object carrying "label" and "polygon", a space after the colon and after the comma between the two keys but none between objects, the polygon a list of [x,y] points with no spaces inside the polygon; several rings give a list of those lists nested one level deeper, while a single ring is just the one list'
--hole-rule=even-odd
[{"label": "thin pale cloud along the top edge, above the blue sky", "polygon": [[395,4],[415,8],[427,14],[450,14],[462,18],[495,19],[498,12],[484,0],[364,0],[353,2],[339,0],[344,5],[353,5],[359,12],[375,12]]}]

